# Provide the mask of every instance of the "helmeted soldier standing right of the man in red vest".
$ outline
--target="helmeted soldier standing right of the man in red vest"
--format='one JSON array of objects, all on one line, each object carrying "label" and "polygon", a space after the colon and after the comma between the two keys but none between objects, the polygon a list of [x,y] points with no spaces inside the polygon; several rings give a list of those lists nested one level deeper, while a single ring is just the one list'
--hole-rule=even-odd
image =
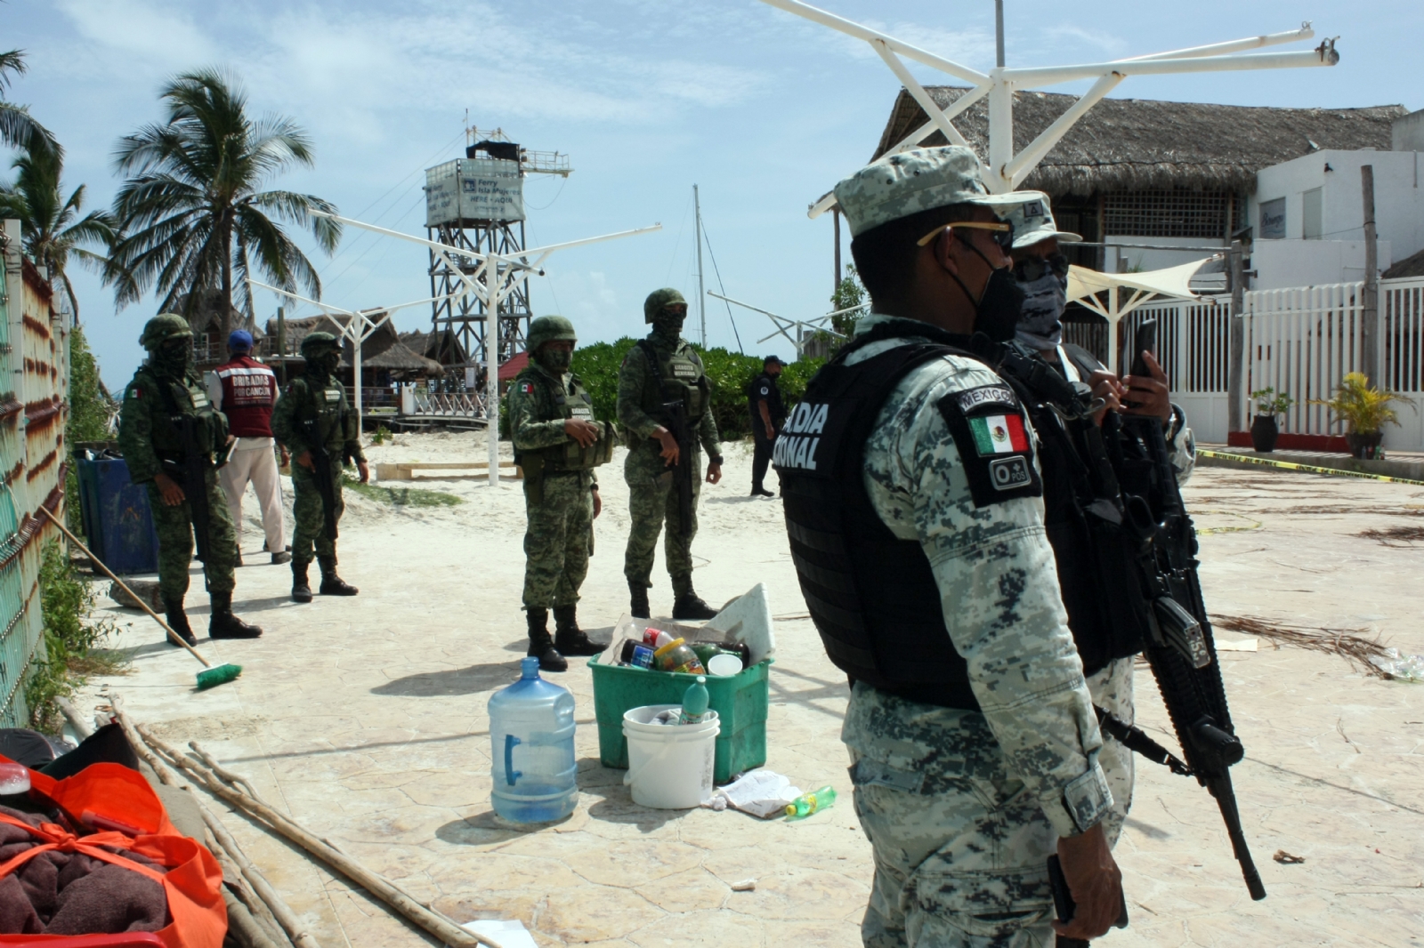
[{"label": "helmeted soldier standing right of the man in red vest", "polygon": [[325,450],[330,465],[335,520],[340,520],[342,467],[356,461],[360,483],[370,480],[366,455],[360,450],[356,413],[346,406],[346,387],[335,377],[342,362],[340,343],[330,333],[308,333],[302,339],[306,370],[286,383],[286,391],[272,410],[272,434],[292,453],[292,599],[310,602],[312,586],[306,578],[312,552],[322,569],[323,596],[353,596],[356,586],[336,575],[336,539],[326,535],[325,502],[318,484],[312,453]]}]

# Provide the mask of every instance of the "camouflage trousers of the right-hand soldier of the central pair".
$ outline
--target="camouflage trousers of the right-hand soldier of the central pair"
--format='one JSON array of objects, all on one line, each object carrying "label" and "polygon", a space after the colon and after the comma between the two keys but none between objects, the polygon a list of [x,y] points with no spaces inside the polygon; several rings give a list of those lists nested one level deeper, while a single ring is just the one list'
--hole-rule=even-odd
[{"label": "camouflage trousers of the right-hand soldier of the central pair", "polygon": [[629,584],[652,586],[652,558],[658,534],[666,524],[662,554],[678,595],[692,588],[692,538],[698,535],[698,498],[702,495],[702,451],[692,453],[692,522],[684,537],[678,510],[678,488],[672,471],[658,454],[655,441],[634,444],[624,460],[624,480],[628,483],[628,549],[624,554],[624,575]]}]

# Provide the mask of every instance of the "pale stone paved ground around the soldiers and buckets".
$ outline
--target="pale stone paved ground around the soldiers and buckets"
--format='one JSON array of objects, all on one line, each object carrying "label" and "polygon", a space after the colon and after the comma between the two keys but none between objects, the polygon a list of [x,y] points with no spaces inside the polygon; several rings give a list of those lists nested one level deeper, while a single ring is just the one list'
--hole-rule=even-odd
[{"label": "pale stone paved ground around the soldiers and buckets", "polygon": [[[779,505],[745,497],[749,458],[731,447],[726,481],[703,495],[699,591],[721,602],[768,585],[785,616],[768,766],[806,789],[849,790],[837,740],[843,679],[810,623],[795,618],[805,606]],[[468,436],[419,436],[373,454],[431,461],[483,451]],[[594,628],[611,625],[627,598],[627,491],[618,464],[605,470],[607,511],[581,608]],[[93,682],[81,706],[100,703],[105,686],[122,692],[135,719],[174,743],[198,739],[279,809],[417,897],[461,920],[520,918],[540,945],[857,945],[871,865],[849,796],[799,824],[637,807],[622,771],[598,763],[582,665],[558,678],[578,702],[578,810],[538,831],[493,817],[486,702],[517,676],[524,649],[520,494],[514,484],[491,494],[459,478],[419,487],[467,500],[437,510],[352,501],[342,571],[362,586],[359,598],[296,606],[285,568],[239,572],[238,604],[266,636],[201,646],[245,666],[235,683],[192,692],[192,659],[125,612],[134,673]],[[1424,527],[1424,488],[1205,468],[1189,502],[1213,531],[1202,541],[1212,612],[1368,629],[1424,652],[1424,551],[1358,537]],[[249,528],[252,564],[265,559],[259,538]],[[659,584],[654,608],[666,611],[671,592]],[[201,628],[202,596],[189,594],[189,605]],[[1370,678],[1334,655],[1260,648],[1223,653],[1223,668],[1247,747],[1233,776],[1270,898],[1246,895],[1206,793],[1141,763],[1118,848],[1132,925],[1099,944],[1420,944],[1424,688]],[[1138,693],[1141,722],[1162,730],[1146,672]],[[325,948],[424,941],[244,818],[226,821]],[[1306,863],[1277,864],[1276,850]],[[755,891],[731,890],[746,878]]]}]

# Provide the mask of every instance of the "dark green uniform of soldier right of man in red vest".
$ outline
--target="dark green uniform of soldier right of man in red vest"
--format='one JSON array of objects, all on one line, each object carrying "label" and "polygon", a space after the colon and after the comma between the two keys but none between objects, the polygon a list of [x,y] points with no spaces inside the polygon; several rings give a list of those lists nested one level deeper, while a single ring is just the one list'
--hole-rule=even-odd
[{"label": "dark green uniform of soldier right of man in red vest", "polygon": [[[315,426],[306,424],[315,421]],[[313,443],[309,437],[315,430]],[[278,397],[272,410],[272,434],[286,446],[292,457],[299,457],[318,444],[326,448],[330,458],[332,497],[336,501],[336,520],[342,517],[342,464],[343,460],[365,461],[360,438],[356,431],[356,413],[346,404],[346,389],[329,374],[312,370],[286,383],[286,390]],[[296,527],[292,532],[292,567],[300,565],[303,572],[312,562],[313,552],[326,574],[328,561],[336,567],[336,541],[326,537],[325,507],[316,474],[292,463],[292,518]]]}]

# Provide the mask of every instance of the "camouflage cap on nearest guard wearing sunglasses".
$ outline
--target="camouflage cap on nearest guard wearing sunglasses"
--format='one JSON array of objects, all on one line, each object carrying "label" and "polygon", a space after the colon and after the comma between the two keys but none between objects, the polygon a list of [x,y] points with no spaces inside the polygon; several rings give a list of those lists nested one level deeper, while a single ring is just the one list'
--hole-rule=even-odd
[{"label": "camouflage cap on nearest guard wearing sunglasses", "polygon": [[1024,192],[990,194],[978,157],[963,145],[884,155],[836,185],[836,204],[846,215],[850,236],[953,204],[984,205],[1002,218],[1027,199]]}]

